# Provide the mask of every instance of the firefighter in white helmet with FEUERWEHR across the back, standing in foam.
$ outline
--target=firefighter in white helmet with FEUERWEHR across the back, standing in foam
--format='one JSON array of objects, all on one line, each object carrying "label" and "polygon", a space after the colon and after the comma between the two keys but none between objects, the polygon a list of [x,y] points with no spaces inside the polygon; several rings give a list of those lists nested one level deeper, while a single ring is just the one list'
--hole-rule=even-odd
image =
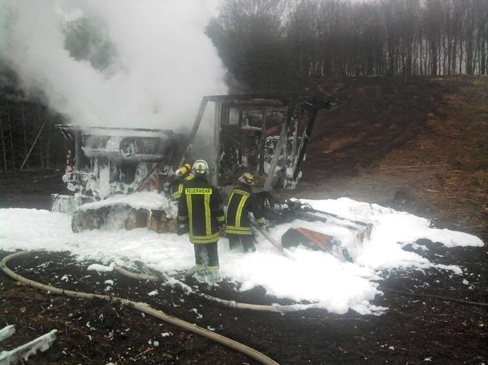
[{"label": "firefighter in white helmet with FEUERWEHR across the back, standing in foam", "polygon": [[179,198],[178,223],[188,226],[195,248],[195,279],[212,284],[221,280],[217,242],[219,232],[225,229],[225,213],[219,190],[205,178],[207,172],[206,161],[198,160],[193,165],[195,178],[185,182]]}]

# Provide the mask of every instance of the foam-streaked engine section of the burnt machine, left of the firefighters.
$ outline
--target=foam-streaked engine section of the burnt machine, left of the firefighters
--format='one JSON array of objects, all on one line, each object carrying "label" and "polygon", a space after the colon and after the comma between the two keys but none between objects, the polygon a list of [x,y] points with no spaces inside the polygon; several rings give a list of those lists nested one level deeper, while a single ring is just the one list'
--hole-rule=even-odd
[{"label": "foam-streaked engine section of the burnt machine, left of the firefighters", "polygon": [[[73,231],[151,224],[155,230],[172,231],[165,224],[170,220],[164,220],[168,202],[158,194],[164,186],[159,178],[168,176],[183,135],[154,129],[56,128],[66,139],[63,180],[74,195],[54,194],[51,209],[72,214]],[[137,196],[142,192],[153,192],[153,196]]]}]

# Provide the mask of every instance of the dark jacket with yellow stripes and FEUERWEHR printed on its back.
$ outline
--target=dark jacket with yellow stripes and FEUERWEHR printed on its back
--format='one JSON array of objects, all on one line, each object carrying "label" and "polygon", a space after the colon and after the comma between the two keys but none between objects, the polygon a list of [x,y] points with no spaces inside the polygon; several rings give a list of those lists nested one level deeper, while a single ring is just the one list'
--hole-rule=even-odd
[{"label": "dark jacket with yellow stripes and FEUERWEHR printed on its back", "polygon": [[222,196],[217,187],[195,176],[184,183],[178,202],[178,222],[188,224],[192,244],[219,240],[219,227],[225,225]]}]

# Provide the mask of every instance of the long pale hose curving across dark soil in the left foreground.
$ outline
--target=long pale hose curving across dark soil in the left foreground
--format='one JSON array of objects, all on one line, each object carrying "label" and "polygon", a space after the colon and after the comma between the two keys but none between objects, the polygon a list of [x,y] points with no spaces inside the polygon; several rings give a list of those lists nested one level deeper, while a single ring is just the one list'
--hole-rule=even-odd
[{"label": "long pale hose curving across dark soil in the left foreground", "polygon": [[218,333],[214,333],[212,331],[209,331],[208,329],[197,327],[196,325],[192,325],[191,323],[188,323],[184,320],[165,314],[162,311],[157,311],[156,309],[148,307],[147,305],[141,305],[140,303],[135,303],[134,301],[130,301],[129,299],[118,298],[116,296],[63,290],[58,287],[53,287],[50,285],[45,285],[43,283],[38,283],[37,281],[26,279],[25,277],[16,274],[6,266],[6,263],[10,261],[10,259],[27,255],[28,253],[29,252],[26,251],[16,252],[11,255],[8,255],[7,257],[4,257],[0,261],[0,269],[3,272],[5,272],[5,274],[7,274],[8,276],[10,276],[12,279],[16,281],[20,281],[21,283],[25,283],[32,287],[36,287],[39,290],[43,290],[44,292],[49,292],[51,294],[74,296],[75,298],[83,298],[83,299],[100,298],[114,303],[119,301],[123,305],[137,309],[138,311],[142,311],[143,313],[149,314],[150,316],[153,316],[155,318],[159,318],[160,320],[164,320],[165,322],[168,322],[171,325],[175,325],[182,329],[186,329],[187,331],[197,333],[197,335],[202,335],[203,337],[209,338],[210,340],[213,340],[215,342],[219,342],[219,344],[223,344],[224,346],[230,347],[230,349],[243,353],[244,355],[251,357],[257,362],[260,362],[261,364],[278,364],[277,362],[267,357],[263,353],[251,349],[249,346],[245,346],[245,344],[241,344],[239,342],[231,340],[230,338],[226,338],[223,335],[219,335]]}]

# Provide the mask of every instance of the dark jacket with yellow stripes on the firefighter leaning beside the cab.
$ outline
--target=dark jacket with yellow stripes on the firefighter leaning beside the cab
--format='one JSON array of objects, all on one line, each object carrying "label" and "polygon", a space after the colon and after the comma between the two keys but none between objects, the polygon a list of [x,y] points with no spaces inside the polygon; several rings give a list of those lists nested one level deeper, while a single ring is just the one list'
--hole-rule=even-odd
[{"label": "dark jacket with yellow stripes on the firefighter leaning beside the cab", "polygon": [[229,204],[225,215],[225,232],[234,235],[252,235],[249,213],[260,226],[265,224],[259,207],[258,197],[249,185],[236,187],[230,192]]}]

